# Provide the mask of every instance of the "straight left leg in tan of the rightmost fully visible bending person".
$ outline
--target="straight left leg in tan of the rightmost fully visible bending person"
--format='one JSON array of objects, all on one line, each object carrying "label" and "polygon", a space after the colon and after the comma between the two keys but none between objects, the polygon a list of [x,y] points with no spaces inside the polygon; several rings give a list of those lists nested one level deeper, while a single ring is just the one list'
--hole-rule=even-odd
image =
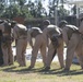
[{"label": "straight left leg in tan of the rightmost fully visible bending person", "polygon": [[67,49],[66,68],[64,68],[66,70],[70,70],[72,59],[74,56],[74,51],[75,51],[76,46],[79,44],[78,36],[79,36],[78,34],[73,34],[71,39],[69,40],[68,49]]}]

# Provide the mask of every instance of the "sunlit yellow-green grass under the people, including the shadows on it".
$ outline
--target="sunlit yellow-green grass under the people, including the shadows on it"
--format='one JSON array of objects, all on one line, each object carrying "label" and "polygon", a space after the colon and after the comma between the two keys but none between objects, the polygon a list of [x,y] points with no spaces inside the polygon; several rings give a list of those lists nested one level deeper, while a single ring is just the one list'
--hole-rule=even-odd
[{"label": "sunlit yellow-green grass under the people, including the shadows on it", "polygon": [[43,71],[43,63],[36,62],[35,68],[28,70],[26,67],[14,66],[0,67],[0,82],[83,82],[83,70],[79,65],[72,65],[69,72],[60,69],[58,62],[51,63],[49,71]]}]

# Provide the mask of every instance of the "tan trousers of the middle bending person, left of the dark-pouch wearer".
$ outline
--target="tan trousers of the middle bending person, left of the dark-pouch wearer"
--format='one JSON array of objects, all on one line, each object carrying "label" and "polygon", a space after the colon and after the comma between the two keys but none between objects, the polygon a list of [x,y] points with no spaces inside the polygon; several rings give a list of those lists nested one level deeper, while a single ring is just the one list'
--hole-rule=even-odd
[{"label": "tan trousers of the middle bending person, left of the dark-pouch wearer", "polygon": [[42,34],[37,35],[35,38],[35,44],[32,50],[31,67],[35,66],[38,50],[40,50],[44,66],[46,66],[46,40]]}]

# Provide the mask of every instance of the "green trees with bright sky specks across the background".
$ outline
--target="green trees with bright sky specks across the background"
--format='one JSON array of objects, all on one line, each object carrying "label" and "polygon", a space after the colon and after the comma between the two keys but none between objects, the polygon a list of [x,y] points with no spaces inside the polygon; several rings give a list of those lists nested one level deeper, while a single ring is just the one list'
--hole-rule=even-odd
[{"label": "green trees with bright sky specks across the background", "polygon": [[[24,17],[47,17],[55,16],[55,3],[59,5],[59,0],[50,0],[49,2],[49,14],[43,7],[45,0],[0,0],[0,17],[13,19],[15,16]],[[58,7],[58,15],[67,15],[67,10],[63,9],[66,0],[61,0],[61,7]],[[26,3],[27,2],[27,3]]]}]

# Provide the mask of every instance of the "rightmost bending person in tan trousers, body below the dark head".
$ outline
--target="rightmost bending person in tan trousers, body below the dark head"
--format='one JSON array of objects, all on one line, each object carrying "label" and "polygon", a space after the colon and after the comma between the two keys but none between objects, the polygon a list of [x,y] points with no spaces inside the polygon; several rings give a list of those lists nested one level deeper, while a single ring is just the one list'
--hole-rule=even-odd
[{"label": "rightmost bending person in tan trousers, body below the dark head", "polygon": [[64,71],[69,71],[74,52],[78,55],[81,67],[83,68],[83,44],[79,28],[74,25],[66,25],[62,28],[63,39],[67,44],[67,59]]}]

